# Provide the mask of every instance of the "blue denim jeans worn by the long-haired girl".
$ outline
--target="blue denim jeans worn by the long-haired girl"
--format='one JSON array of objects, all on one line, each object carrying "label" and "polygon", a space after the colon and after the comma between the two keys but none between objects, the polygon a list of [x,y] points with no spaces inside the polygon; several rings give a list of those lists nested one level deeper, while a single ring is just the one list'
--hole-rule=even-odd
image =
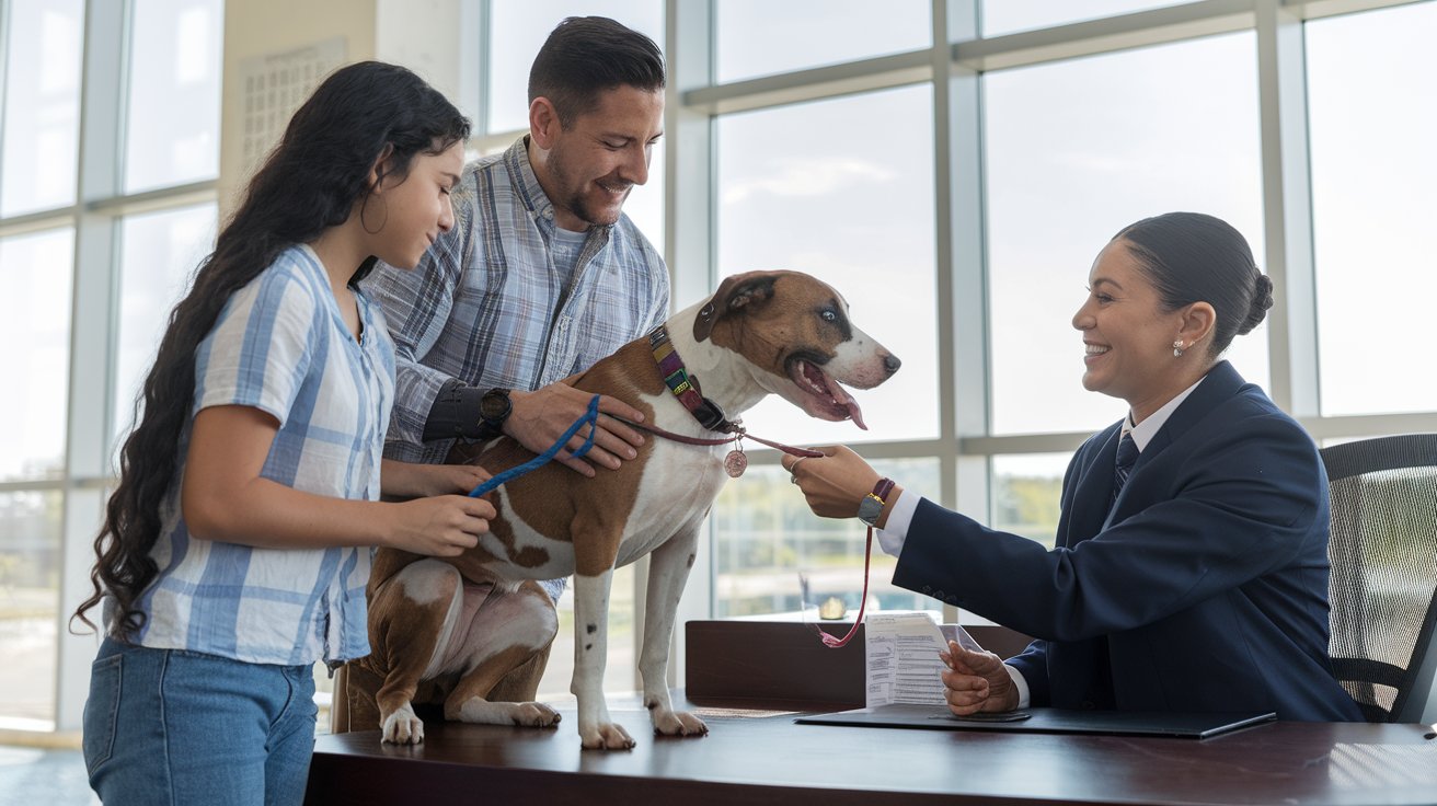
[{"label": "blue denim jeans worn by the long-haired girl", "polygon": [[316,714],[308,665],[106,638],[85,703],[85,769],[109,806],[299,805]]}]

